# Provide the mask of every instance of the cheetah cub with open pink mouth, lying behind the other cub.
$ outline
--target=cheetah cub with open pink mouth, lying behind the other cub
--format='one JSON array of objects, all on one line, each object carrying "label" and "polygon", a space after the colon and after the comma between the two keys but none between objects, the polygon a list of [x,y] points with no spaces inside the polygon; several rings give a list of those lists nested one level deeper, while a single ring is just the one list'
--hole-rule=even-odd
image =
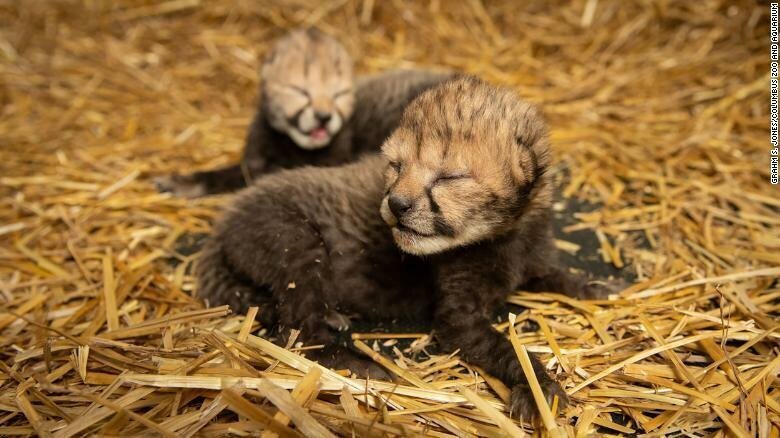
[{"label": "cheetah cub with open pink mouth, lying behind the other cub", "polygon": [[197,197],[243,188],[279,169],[334,165],[375,152],[420,92],[452,75],[398,70],[353,77],[352,58],[335,38],[293,31],[274,44],[261,67],[261,100],[241,162],[155,180],[161,191]]}]

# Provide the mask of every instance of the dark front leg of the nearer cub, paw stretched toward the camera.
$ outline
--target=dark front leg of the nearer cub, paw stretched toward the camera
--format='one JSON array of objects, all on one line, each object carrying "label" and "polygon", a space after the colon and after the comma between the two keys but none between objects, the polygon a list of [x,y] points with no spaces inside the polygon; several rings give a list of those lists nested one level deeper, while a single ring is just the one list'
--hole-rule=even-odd
[{"label": "dark front leg of the nearer cub, paw stretched toward the camera", "polygon": [[[494,257],[458,257],[438,269],[439,296],[434,327],[442,347],[460,349],[468,363],[483,368],[512,389],[510,413],[525,419],[537,415],[528,380],[520,367],[509,340],[491,325],[492,315],[505,300],[510,288],[509,275],[497,268]],[[547,402],[558,406],[568,401],[566,393],[553,380],[536,357],[531,356],[534,372]]]}]

